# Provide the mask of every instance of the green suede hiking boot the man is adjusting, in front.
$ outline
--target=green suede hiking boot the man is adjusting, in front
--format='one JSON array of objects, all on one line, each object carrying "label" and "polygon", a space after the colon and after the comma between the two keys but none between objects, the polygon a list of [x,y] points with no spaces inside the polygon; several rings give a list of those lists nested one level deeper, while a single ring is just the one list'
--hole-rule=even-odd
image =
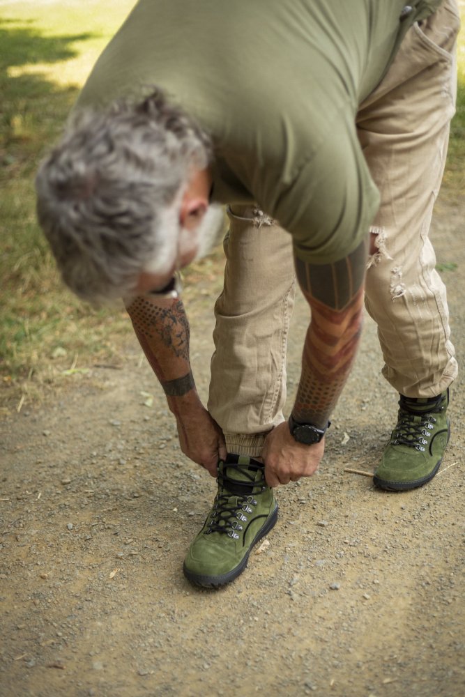
[{"label": "green suede hiking boot the man is adjusting, in front", "polygon": [[247,566],[254,544],[276,521],[277,503],[264,466],[250,457],[228,455],[218,464],[218,493],[185,557],[184,575],[206,588],[233,581]]}]

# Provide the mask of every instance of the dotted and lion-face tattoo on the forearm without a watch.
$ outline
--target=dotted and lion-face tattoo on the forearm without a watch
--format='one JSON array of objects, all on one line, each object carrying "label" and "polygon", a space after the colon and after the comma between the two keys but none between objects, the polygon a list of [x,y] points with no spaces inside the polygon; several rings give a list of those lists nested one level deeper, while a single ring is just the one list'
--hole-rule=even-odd
[{"label": "dotted and lion-face tattoo on the forearm without a watch", "polygon": [[158,335],[176,357],[189,360],[190,329],[181,300],[174,300],[165,307],[137,297],[129,305],[128,312],[138,337],[143,335],[150,342]]}]

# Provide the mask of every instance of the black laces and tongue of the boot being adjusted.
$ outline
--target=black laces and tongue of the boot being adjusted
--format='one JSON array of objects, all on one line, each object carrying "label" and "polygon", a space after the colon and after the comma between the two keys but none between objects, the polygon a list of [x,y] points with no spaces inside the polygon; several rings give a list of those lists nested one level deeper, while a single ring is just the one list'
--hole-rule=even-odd
[{"label": "black laces and tongue of the boot being adjusted", "polygon": [[[241,470],[248,481],[228,477],[229,469]],[[261,473],[259,477],[257,472]],[[239,539],[238,533],[243,530],[243,523],[247,523],[247,514],[252,513],[253,507],[257,505],[257,499],[254,496],[266,489],[264,468],[252,463],[225,464],[218,471],[218,485],[218,494],[215,496],[212,518],[208,523],[206,535],[224,533],[228,537]]]}]

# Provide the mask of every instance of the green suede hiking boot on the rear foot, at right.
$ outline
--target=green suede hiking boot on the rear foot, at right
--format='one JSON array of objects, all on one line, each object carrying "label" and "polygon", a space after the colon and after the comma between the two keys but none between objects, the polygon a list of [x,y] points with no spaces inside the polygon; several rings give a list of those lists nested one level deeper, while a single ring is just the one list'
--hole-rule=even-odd
[{"label": "green suede hiking boot on the rear foot, at right", "polygon": [[374,473],[377,487],[404,491],[432,480],[450,436],[448,404],[449,390],[431,399],[400,395],[397,425]]}]

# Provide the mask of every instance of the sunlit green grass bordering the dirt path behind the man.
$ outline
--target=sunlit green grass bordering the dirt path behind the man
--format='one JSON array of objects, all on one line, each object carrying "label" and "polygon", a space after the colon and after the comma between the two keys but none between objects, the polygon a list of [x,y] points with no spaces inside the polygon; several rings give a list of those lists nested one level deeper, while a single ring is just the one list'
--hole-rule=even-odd
[{"label": "sunlit green grass bordering the dirt path behind the man", "polygon": [[[79,379],[94,363],[120,363],[132,337],[124,310],[83,305],[59,281],[36,224],[33,176],[59,135],[79,86],[134,0],[14,2],[0,6],[0,399],[10,407]],[[465,42],[445,196],[465,189]],[[221,254],[189,270],[220,276]],[[218,281],[218,284],[220,281]],[[72,369],[72,370],[70,370]]]}]

